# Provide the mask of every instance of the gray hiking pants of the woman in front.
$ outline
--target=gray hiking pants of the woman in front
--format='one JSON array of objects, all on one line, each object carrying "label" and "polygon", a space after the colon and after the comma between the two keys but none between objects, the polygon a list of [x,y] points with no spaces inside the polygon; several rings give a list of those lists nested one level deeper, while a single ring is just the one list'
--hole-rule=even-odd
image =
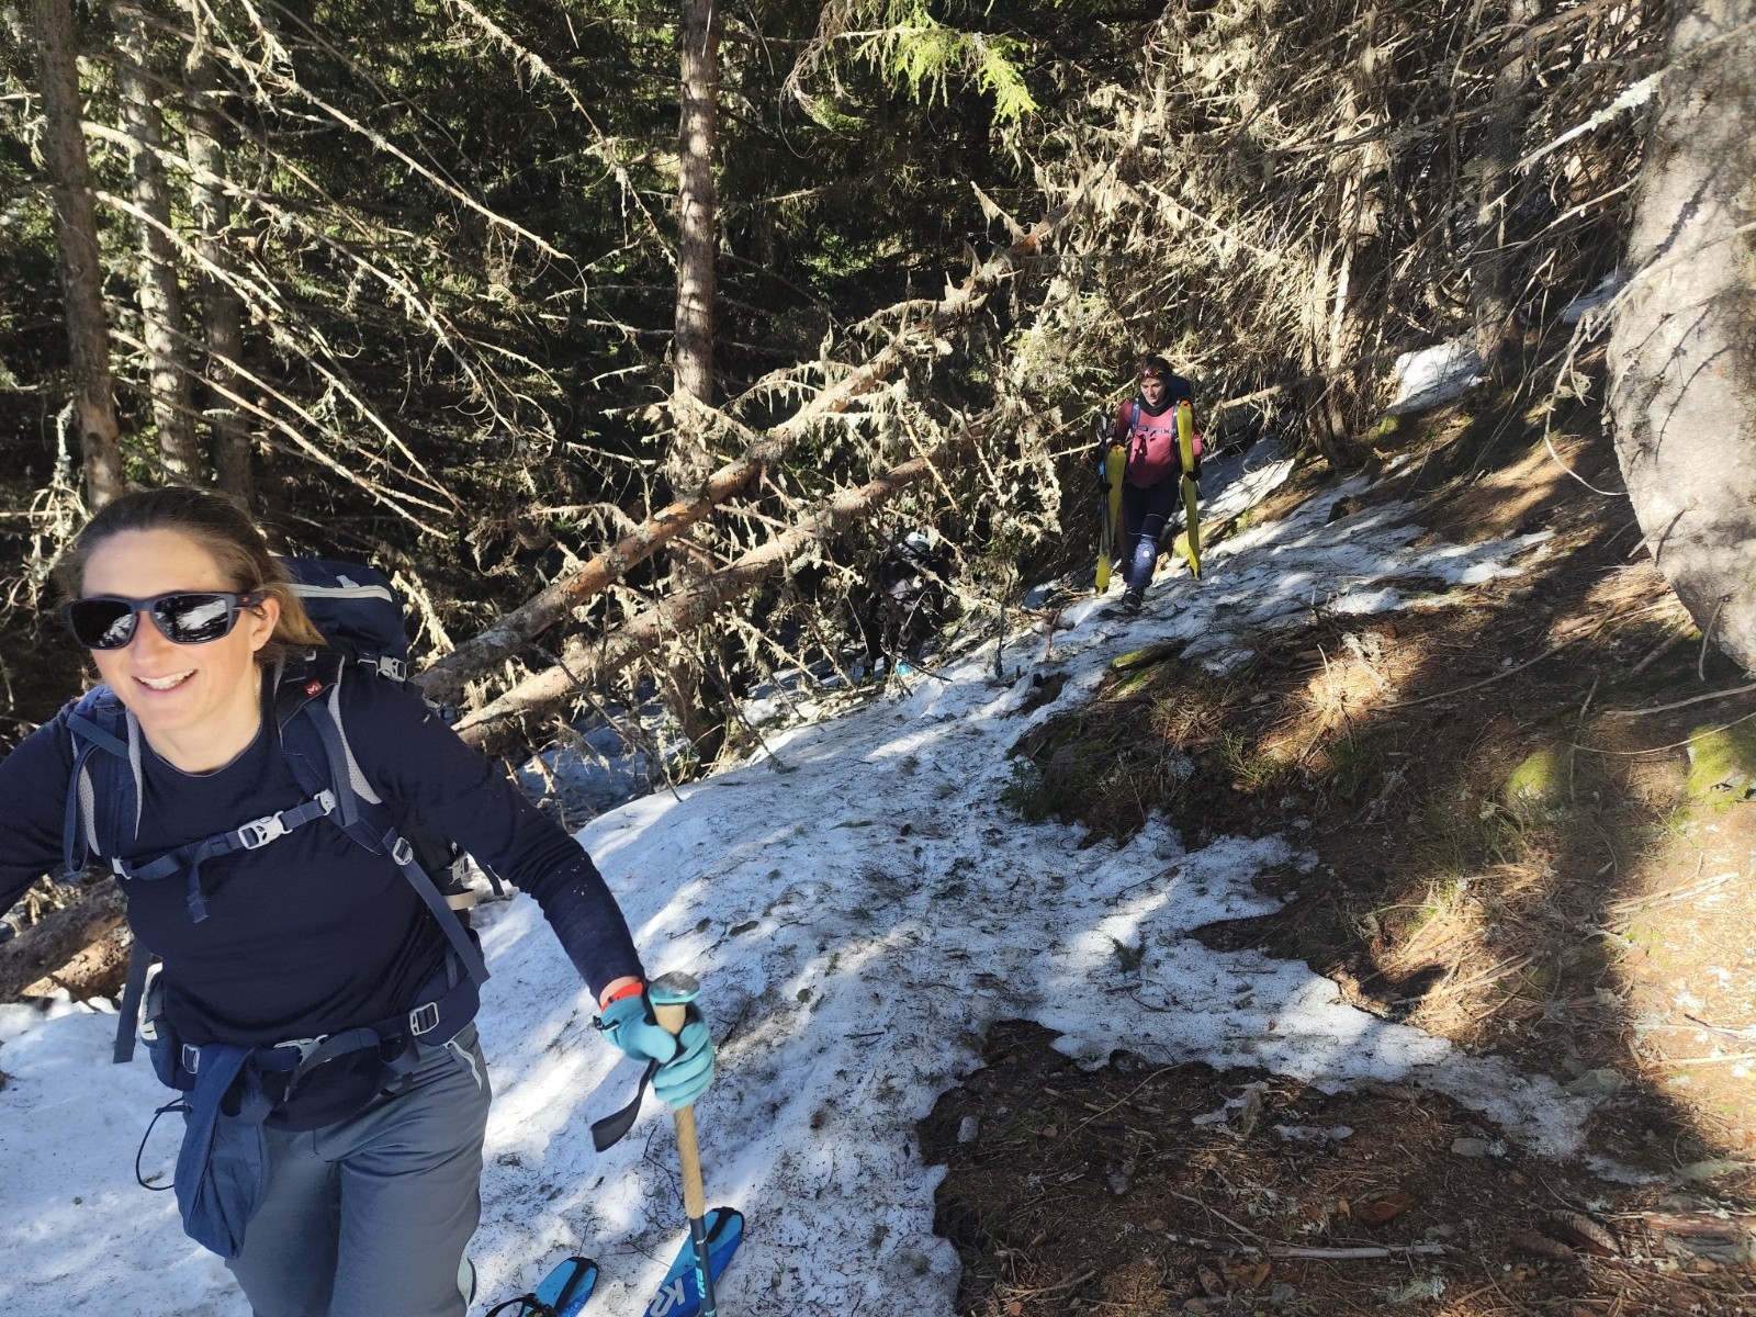
[{"label": "gray hiking pants of the woman in front", "polygon": [[469,1026],[420,1047],[407,1092],[323,1129],[265,1131],[267,1198],[227,1263],[255,1317],[464,1317],[488,1098]]}]

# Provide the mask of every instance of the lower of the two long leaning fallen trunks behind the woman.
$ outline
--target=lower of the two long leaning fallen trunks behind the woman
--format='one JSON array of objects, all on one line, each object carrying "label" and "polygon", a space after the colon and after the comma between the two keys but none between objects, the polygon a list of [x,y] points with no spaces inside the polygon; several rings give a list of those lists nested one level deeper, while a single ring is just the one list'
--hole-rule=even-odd
[{"label": "lower of the two long leaning fallen trunks behind the woman", "polygon": [[929,453],[892,467],[878,479],[825,500],[790,530],[704,578],[699,588],[648,608],[606,637],[569,641],[555,667],[520,681],[465,718],[458,723],[458,734],[490,753],[506,748],[520,739],[520,718],[553,711],[578,688],[597,687],[655,650],[664,639],[699,627],[730,601],[778,576],[811,543],[867,518],[904,488],[924,479],[934,465],[957,457],[973,443],[975,432],[964,430]]}]

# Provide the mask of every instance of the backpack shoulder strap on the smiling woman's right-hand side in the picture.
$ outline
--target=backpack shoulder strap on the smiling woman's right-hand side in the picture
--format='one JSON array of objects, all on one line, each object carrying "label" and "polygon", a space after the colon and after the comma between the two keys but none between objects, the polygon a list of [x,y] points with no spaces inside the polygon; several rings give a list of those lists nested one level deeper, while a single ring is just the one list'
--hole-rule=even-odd
[{"label": "backpack shoulder strap on the smiling woman's right-hand side in the picture", "polygon": [[[348,729],[341,716],[341,688],[348,680],[362,680],[360,669],[332,655],[318,655],[311,666],[283,681],[276,692],[276,722],[281,750],[306,790],[330,790],[335,795],[335,822],[376,855],[388,855],[421,897],[441,932],[478,987],[488,982],[481,950],[444,894],[414,857],[414,846],[397,829],[390,808],[372,790],[360,771]],[[376,681],[376,676],[363,680]],[[321,785],[314,774],[321,773]],[[309,780],[307,780],[309,778]]]}]

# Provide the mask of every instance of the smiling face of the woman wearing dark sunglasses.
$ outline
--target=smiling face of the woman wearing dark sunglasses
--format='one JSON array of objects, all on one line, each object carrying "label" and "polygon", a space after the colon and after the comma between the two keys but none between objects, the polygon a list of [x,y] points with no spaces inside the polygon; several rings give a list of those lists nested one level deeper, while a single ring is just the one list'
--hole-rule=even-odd
[{"label": "smiling face of the woman wearing dark sunglasses", "polygon": [[[242,590],[212,555],[177,530],[119,530],[86,560],[86,595],[151,599],[174,590]],[[119,650],[91,650],[98,674],[140,720],[140,729],[174,738],[235,734],[255,718],[260,678],[256,650],[274,636],[281,606],[270,597],[241,609],[230,634],[204,644],[172,644],[149,616],[137,616]]]}]

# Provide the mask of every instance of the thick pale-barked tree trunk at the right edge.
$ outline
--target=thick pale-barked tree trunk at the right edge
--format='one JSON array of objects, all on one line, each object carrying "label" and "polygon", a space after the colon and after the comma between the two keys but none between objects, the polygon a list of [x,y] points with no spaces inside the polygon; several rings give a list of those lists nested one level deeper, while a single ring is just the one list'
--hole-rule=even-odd
[{"label": "thick pale-barked tree trunk at the right edge", "polygon": [[1756,671],[1756,0],[1677,19],[1610,328],[1616,455],[1691,616]]}]

